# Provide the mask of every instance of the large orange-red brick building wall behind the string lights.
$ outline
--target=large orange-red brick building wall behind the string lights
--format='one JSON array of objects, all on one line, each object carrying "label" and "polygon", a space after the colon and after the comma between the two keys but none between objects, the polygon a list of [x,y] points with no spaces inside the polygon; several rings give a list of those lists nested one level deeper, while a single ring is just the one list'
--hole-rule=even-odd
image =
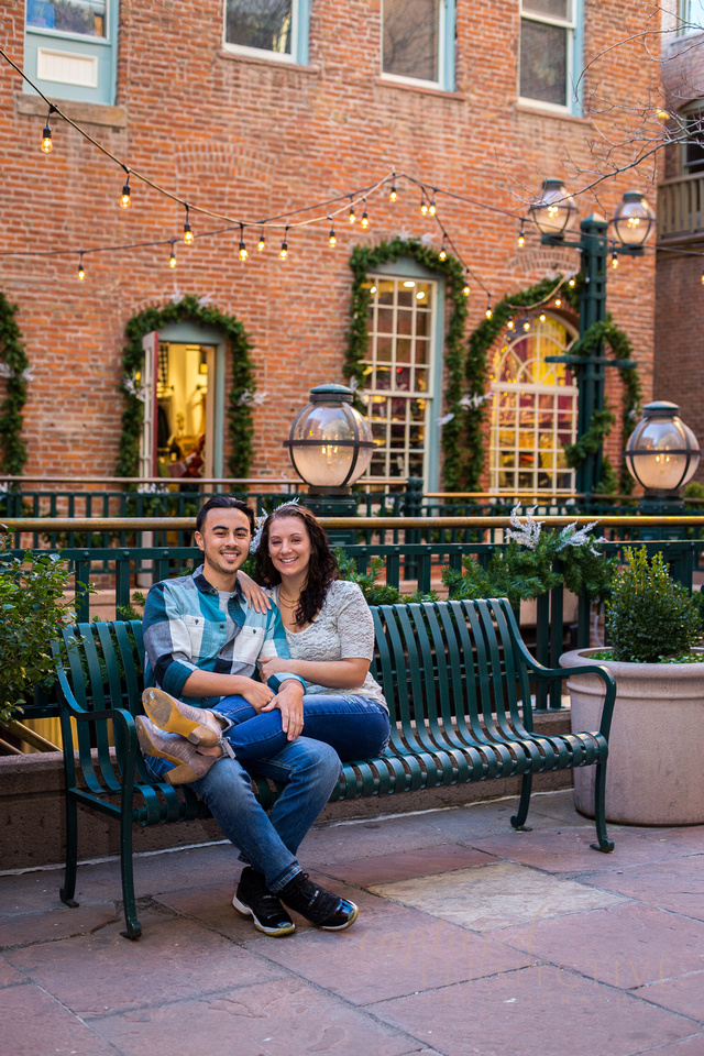
[{"label": "large orange-red brick building wall behind the string lights", "polygon": [[[546,275],[579,268],[575,251],[541,248],[530,226],[518,249],[517,218],[527,213],[548,176],[563,177],[572,191],[593,182],[591,174],[598,168],[591,150],[598,139],[595,128],[608,136],[612,123],[620,120],[609,116],[604,100],[641,101],[652,90],[641,44],[602,54],[638,30],[640,0],[524,0],[522,10],[519,0],[486,0],[481,11],[463,0],[386,0],[385,8],[381,0],[292,0],[278,4],[290,9],[292,21],[279,19],[268,36],[249,23],[240,33],[238,25],[242,11],[271,14],[276,4],[264,0],[231,0],[228,19],[223,0],[117,3],[29,0],[26,12],[24,4],[2,3],[3,51],[114,157],[191,204],[196,241],[190,248],[180,241],[183,206],[134,176],[131,207],[121,209],[122,168],[56,114],[53,150],[43,154],[46,106],[0,61],[0,290],[18,305],[15,318],[32,367],[23,411],[25,473],[114,473],[125,406],[125,328],[146,308],[163,309],[195,295],[235,317],[250,336],[261,396],[253,407],[251,475],[293,475],[282,440],[296,411],[311,385],[344,380],[354,246],[373,248],[400,237],[440,250],[440,220],[472,270],[469,338],[484,319],[485,290],[496,302]],[[61,22],[66,11],[79,8],[92,12],[89,32],[82,23]],[[424,20],[431,31],[419,38],[397,33]],[[110,51],[108,73],[101,41]],[[575,99],[576,72],[591,59],[596,61],[587,66]],[[95,85],[91,69],[97,69]],[[602,111],[596,121],[593,110]],[[437,188],[436,218],[420,212],[418,186],[399,176],[396,201],[388,200],[388,183],[369,194],[366,231],[359,220],[348,222],[343,198],[292,216],[287,260],[278,253],[280,226],[266,228],[266,249],[256,251],[261,228],[250,221],[352,195],[394,170]],[[576,198],[581,216],[597,210],[610,217],[623,193],[637,183],[628,172],[584,190]],[[639,189],[648,191],[645,178]],[[245,262],[238,255],[239,227],[200,215],[195,206],[248,221]],[[324,218],[340,209],[333,218],[337,245],[331,246]],[[358,205],[358,218],[362,209]],[[321,222],[296,226],[314,217],[322,217]],[[206,238],[220,229],[227,230]],[[168,266],[169,239],[177,240],[175,268]],[[120,249],[152,242],[162,244]],[[112,249],[90,252],[98,248]],[[77,279],[80,250],[82,282]],[[380,437],[387,430],[387,471],[413,475],[420,466],[427,485],[437,487],[442,484],[438,419],[447,410],[441,345],[450,298],[442,297],[441,276],[410,260],[387,265],[381,280],[384,296],[396,298],[393,326],[407,296],[406,280],[419,284],[417,293],[425,290],[426,304],[432,300],[436,312],[443,305],[435,339],[428,333],[430,344],[422,354],[419,341],[411,352],[417,356],[413,377],[403,365],[402,331],[394,338],[400,342],[397,359],[388,361],[402,364],[395,367],[406,385],[399,400],[408,403],[420,378],[425,385],[408,411],[406,462],[394,450],[400,433],[391,404],[386,426],[377,424]],[[653,305],[653,254],[623,260],[608,276],[608,309],[634,343],[646,397],[652,393]],[[415,305],[414,334],[435,324],[424,321],[422,307]],[[564,302],[541,310],[553,333],[569,340],[576,332],[578,320]],[[506,334],[503,339],[508,340]],[[195,331],[176,328],[162,334],[162,345],[163,354],[168,346],[174,371],[162,377],[164,393],[170,387],[175,407],[179,386],[190,391],[180,393],[180,410],[164,416],[160,449],[168,448],[165,457],[173,459],[175,439],[193,443],[205,432],[207,465],[224,471],[231,360],[218,360],[220,353],[212,351],[217,334],[199,343]],[[433,355],[435,370],[428,363]],[[385,378],[388,387],[389,367],[382,369],[380,356],[374,376],[380,385]],[[180,381],[174,381],[177,369]],[[201,382],[194,382],[199,373]],[[616,372],[609,372],[607,398],[615,407],[619,384]],[[0,396],[6,385],[0,377]],[[383,395],[378,404],[384,404]],[[168,411],[167,399],[164,407]],[[483,486],[497,480],[490,476],[488,432],[487,425]],[[618,432],[607,442],[614,460],[620,450]],[[425,462],[418,455],[424,449]],[[503,458],[510,462],[509,455]],[[510,480],[512,486],[521,483],[518,476]],[[530,480],[537,485],[542,477]],[[550,485],[557,477],[544,480]]]}]

